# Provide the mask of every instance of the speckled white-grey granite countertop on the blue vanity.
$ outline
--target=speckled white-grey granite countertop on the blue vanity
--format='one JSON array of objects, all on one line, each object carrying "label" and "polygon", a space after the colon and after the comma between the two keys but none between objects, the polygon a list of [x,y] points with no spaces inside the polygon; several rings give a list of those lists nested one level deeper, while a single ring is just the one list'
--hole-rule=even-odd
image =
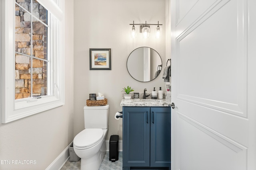
[{"label": "speckled white-grey granite countertop on the blue vanity", "polygon": [[120,106],[169,107],[170,104],[166,99],[122,99]]}]

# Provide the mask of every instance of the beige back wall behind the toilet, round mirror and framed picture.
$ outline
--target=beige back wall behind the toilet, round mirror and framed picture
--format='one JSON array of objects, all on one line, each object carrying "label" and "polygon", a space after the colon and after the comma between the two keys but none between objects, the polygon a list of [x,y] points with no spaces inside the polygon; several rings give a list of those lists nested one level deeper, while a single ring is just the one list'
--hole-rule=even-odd
[{"label": "beige back wall behind the toilet, round mirror and framed picture", "polygon": [[[74,135],[84,129],[83,107],[90,93],[101,92],[110,105],[110,135],[119,135],[122,139],[122,119],[114,119],[117,111],[122,111],[120,102],[122,88],[132,86],[135,92],[144,88],[151,92],[154,87],[165,83],[160,76],[151,82],[138,82],[127,71],[126,61],[136,48],[147,46],[158,51],[165,60],[165,0],[75,0],[74,1]],[[139,34],[131,39],[129,31],[135,23],[163,24],[160,39],[154,37],[142,39]],[[152,26],[154,27],[154,26]],[[90,70],[89,49],[111,48],[112,70]]]}]

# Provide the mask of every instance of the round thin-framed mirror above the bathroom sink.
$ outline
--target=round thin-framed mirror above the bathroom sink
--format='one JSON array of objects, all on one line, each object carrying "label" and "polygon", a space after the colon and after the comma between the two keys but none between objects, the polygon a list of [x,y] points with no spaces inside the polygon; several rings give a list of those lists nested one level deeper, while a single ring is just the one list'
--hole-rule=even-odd
[{"label": "round thin-framed mirror above the bathroom sink", "polygon": [[154,80],[162,70],[160,55],[150,47],[139,47],[130,53],[127,70],[135,80],[149,82]]}]

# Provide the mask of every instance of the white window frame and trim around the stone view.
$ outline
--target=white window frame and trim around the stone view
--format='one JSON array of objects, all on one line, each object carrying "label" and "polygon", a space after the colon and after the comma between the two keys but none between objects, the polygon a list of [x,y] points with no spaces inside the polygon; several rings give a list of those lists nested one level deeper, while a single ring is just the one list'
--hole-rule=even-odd
[{"label": "white window frame and trim around the stone view", "polygon": [[[41,98],[15,100],[15,2],[2,2],[2,70],[1,102],[2,123],[8,123],[54,107],[64,105],[64,0],[37,0],[54,17],[51,29],[51,82],[52,95]],[[10,57],[12,56],[12,57]]]}]

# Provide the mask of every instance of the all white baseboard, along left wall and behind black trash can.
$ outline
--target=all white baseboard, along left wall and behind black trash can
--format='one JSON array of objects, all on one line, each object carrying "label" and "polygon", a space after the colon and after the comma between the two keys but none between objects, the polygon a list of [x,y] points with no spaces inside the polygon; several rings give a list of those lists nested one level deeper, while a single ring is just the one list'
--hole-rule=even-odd
[{"label": "all white baseboard, along left wall and behind black trash can", "polygon": [[[60,170],[69,158],[69,146],[46,168],[46,170]],[[106,150],[109,151],[109,140],[105,140]],[[118,150],[123,151],[123,141],[118,140]]]}]

